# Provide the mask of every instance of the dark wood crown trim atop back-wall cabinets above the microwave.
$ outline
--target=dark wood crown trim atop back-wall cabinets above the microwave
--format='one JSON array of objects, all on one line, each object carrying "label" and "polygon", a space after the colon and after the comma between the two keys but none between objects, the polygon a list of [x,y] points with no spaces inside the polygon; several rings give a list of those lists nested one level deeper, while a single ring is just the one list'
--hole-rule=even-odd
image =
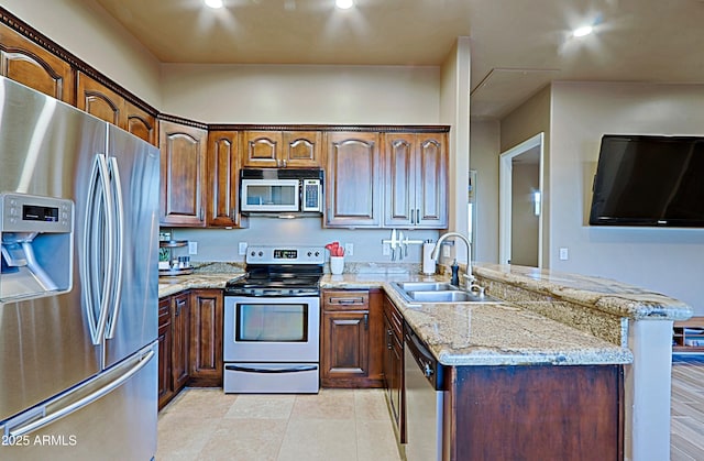
[{"label": "dark wood crown trim atop back-wall cabinets above the microwave", "polygon": [[[160,116],[161,117],[161,116]],[[174,117],[174,116],[166,116]],[[212,123],[209,130],[219,131],[351,131],[351,132],[387,132],[387,133],[448,133],[450,125],[388,125],[388,124],[229,124]]]}]

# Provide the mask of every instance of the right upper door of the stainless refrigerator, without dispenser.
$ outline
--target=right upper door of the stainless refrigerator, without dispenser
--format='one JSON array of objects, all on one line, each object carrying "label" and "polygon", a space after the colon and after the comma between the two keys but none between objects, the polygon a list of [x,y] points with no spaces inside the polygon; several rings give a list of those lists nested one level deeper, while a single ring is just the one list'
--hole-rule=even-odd
[{"label": "right upper door of the stainless refrigerator, without dispenser", "polygon": [[158,316],[160,153],[110,125],[108,145],[114,187],[119,289],[112,296],[106,332],[107,366],[156,339]]}]

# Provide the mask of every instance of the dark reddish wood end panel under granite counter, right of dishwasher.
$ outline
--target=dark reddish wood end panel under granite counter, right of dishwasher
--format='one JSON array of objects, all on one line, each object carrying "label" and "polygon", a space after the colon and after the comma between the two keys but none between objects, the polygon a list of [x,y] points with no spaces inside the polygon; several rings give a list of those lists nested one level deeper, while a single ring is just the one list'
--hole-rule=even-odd
[{"label": "dark reddish wood end panel under granite counter, right of dishwasher", "polygon": [[444,459],[624,459],[620,365],[446,372]]}]

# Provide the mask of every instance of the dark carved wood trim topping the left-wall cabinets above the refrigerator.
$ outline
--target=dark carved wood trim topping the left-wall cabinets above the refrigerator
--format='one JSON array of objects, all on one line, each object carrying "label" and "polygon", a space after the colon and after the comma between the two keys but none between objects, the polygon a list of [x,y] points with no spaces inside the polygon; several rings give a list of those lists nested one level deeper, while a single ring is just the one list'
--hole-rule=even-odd
[{"label": "dark carved wood trim topping the left-wall cabinets above the refrigerator", "polygon": [[[116,84],[114,81],[112,81],[111,79],[109,79],[108,77],[99,73],[95,67],[92,67],[85,61],[78,58],[68,50],[64,48],[63,46],[61,46],[59,44],[57,44],[56,42],[54,42],[53,40],[44,35],[43,33],[38,32],[36,29],[32,28],[30,24],[22,21],[21,19],[19,19],[18,17],[15,17],[14,14],[12,14],[11,12],[9,12],[2,7],[0,7],[0,22],[2,22],[4,25],[9,26],[13,31],[18,32],[22,36],[36,43],[47,52],[57,56],[58,58],[67,62],[76,70],[79,70],[86,74],[94,80],[100,83],[101,85],[117,92],[118,95],[123,97],[125,100],[130,101],[134,106],[147,112],[150,116],[156,117],[158,114],[158,111],[154,107],[146,103],[144,100],[138,98],[136,96],[128,91],[122,86]],[[78,92],[76,91],[76,94]]]}]

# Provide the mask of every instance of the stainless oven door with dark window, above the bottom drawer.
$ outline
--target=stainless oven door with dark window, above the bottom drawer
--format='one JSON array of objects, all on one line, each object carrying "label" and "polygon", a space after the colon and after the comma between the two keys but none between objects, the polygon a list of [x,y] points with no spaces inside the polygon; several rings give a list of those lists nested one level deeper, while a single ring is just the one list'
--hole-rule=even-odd
[{"label": "stainless oven door with dark window, above the bottom drawer", "polygon": [[318,362],[319,297],[226,296],[226,362]]}]

